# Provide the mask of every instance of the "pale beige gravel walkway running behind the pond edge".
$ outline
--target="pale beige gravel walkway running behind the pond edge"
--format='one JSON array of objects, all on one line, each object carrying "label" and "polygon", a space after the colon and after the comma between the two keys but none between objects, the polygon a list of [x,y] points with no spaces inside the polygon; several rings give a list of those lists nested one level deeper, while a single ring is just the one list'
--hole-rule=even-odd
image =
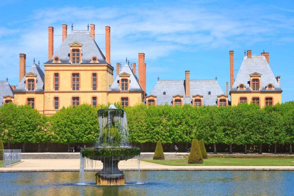
[{"label": "pale beige gravel walkway running behind the pond edge", "polygon": [[[120,161],[119,169],[123,171],[137,170],[137,160]],[[93,163],[93,169],[102,169],[102,163]],[[163,170],[292,170],[294,166],[168,166],[141,161],[142,171]],[[29,172],[29,171],[79,171],[79,159],[25,159],[11,168],[0,168],[0,172]]]}]

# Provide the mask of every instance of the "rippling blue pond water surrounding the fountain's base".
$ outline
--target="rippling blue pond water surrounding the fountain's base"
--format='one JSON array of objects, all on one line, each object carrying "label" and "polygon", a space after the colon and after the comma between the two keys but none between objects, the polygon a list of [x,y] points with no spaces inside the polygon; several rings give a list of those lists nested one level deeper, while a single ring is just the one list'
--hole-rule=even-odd
[{"label": "rippling blue pond water surrounding the fountain's base", "polygon": [[78,172],[0,173],[0,195],[291,195],[292,171],[126,171],[128,185],[98,186],[87,171],[77,185]]}]

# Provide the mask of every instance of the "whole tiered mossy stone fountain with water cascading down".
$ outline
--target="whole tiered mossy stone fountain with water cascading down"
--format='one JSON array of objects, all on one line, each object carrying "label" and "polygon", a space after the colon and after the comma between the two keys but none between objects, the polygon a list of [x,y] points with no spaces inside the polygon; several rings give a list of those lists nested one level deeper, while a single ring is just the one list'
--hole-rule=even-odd
[{"label": "whole tiered mossy stone fountain with water cascading down", "polygon": [[103,163],[103,169],[96,173],[96,184],[125,184],[125,175],[118,168],[119,161],[141,153],[139,148],[129,146],[126,113],[111,104],[108,109],[98,110],[97,115],[100,128],[98,147],[82,149],[81,156]]}]

